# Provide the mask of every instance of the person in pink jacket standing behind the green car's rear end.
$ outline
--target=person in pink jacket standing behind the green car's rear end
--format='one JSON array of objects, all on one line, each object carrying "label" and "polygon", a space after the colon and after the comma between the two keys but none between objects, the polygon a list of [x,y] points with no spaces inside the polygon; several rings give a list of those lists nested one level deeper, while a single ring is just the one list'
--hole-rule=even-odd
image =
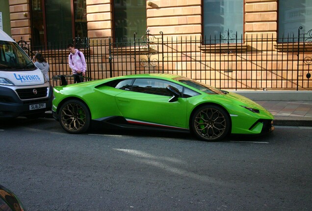
[{"label": "person in pink jacket standing behind the green car's rear end", "polygon": [[69,67],[73,71],[74,83],[83,82],[83,78],[79,76],[85,76],[87,64],[85,63],[84,55],[81,51],[75,48],[73,44],[68,44],[67,49],[70,52],[68,55]]}]

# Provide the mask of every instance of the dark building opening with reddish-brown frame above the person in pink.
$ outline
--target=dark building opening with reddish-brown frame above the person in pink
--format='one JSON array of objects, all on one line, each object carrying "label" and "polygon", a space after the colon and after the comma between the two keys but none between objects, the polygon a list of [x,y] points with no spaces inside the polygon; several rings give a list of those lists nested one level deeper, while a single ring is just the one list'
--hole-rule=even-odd
[{"label": "dark building opening with reddish-brown frame above the person in pink", "polygon": [[30,0],[33,46],[87,37],[86,0]]}]

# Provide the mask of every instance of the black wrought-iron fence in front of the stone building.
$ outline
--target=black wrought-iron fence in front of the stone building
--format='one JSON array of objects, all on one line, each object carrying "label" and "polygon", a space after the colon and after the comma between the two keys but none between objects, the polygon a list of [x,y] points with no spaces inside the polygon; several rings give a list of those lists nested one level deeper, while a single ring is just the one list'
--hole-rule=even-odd
[{"label": "black wrought-iron fence in front of the stone building", "polygon": [[[279,42],[277,42],[277,40]],[[299,42],[298,42],[299,41]],[[183,75],[223,89],[311,89],[312,30],[297,36],[245,35],[231,30],[216,37],[173,37],[162,32],[131,40],[80,39],[74,41],[86,57],[86,76],[103,79],[141,73]],[[66,43],[31,46],[50,64],[50,76],[72,74]],[[52,85],[57,82],[52,81]],[[70,82],[71,83],[71,82]]]}]

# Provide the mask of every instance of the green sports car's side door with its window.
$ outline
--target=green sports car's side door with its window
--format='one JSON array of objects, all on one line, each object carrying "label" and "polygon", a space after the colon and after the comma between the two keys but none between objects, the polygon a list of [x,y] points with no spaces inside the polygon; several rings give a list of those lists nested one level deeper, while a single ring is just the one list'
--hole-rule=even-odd
[{"label": "green sports car's side door with its window", "polygon": [[139,78],[131,87],[116,95],[116,104],[128,122],[151,126],[186,128],[186,98],[169,103],[172,95],[166,87],[172,85],[182,92],[183,87],[166,80]]}]

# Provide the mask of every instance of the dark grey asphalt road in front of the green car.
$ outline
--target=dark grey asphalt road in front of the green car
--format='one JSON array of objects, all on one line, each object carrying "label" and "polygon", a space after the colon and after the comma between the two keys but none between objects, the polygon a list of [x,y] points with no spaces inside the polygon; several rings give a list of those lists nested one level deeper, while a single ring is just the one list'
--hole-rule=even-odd
[{"label": "dark grey asphalt road in front of the green car", "polygon": [[312,127],[203,142],[53,119],[0,123],[0,184],[28,211],[311,211]]}]

